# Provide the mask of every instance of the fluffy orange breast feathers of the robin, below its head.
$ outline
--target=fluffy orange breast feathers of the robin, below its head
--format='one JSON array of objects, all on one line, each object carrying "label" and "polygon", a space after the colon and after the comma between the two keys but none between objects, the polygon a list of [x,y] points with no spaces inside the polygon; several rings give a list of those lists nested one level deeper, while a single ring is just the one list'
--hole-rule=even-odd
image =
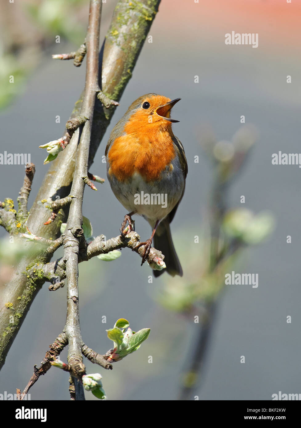
[{"label": "fluffy orange breast feathers of the robin, below its head", "polygon": [[176,155],[170,124],[141,126],[129,121],[126,135],[116,138],[108,152],[109,174],[126,181],[138,172],[145,181],[155,181]]}]

